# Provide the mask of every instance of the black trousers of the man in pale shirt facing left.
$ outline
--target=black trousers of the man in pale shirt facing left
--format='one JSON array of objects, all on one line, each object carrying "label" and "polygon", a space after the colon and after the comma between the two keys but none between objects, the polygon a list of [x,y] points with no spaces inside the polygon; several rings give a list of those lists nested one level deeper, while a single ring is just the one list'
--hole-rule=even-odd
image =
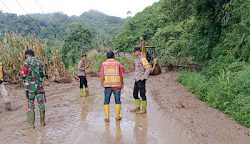
[{"label": "black trousers of the man in pale shirt facing left", "polygon": [[139,81],[135,82],[134,92],[133,92],[135,99],[140,99],[139,92],[140,92],[141,99],[143,101],[147,100],[147,98],[146,98],[146,80],[143,80],[143,81],[139,80]]}]

